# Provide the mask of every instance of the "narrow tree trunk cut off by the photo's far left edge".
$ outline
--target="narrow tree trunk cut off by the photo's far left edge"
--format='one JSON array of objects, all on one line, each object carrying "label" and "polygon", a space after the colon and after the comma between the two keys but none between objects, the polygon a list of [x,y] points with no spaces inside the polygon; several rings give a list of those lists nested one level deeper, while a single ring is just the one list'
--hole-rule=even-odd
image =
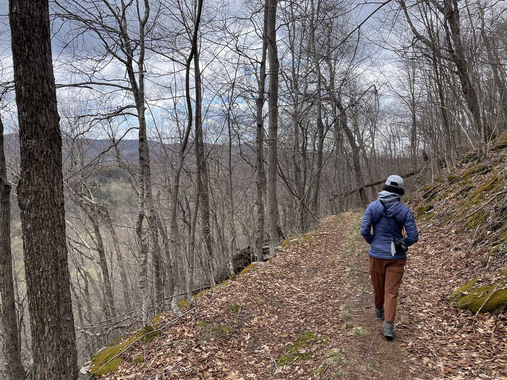
[{"label": "narrow tree trunk cut off by the photo's far left edge", "polygon": [[2,326],[4,329],[4,357],[7,380],[24,380],[21,363],[11,255],[11,185],[7,179],[4,154],[4,125],[0,118],[0,297],[2,298]]}]

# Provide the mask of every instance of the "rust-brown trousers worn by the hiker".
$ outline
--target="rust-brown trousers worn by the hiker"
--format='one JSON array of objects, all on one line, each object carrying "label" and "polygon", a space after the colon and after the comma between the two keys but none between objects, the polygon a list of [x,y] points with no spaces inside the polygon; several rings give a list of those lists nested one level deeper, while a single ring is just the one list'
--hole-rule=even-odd
[{"label": "rust-brown trousers worn by the hiker", "polygon": [[387,260],[370,256],[370,276],[373,284],[375,306],[384,306],[385,320],[393,322],[396,317],[398,289],[402,283],[407,259]]}]

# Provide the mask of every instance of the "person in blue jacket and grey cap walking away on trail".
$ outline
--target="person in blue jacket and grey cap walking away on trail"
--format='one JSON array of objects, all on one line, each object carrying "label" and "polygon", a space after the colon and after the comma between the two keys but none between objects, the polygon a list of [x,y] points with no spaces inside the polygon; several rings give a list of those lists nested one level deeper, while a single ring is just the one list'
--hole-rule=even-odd
[{"label": "person in blue jacket and grey cap walking away on trail", "polygon": [[[405,194],[403,185],[403,178],[399,175],[389,176],[382,191],[378,193],[379,198],[368,205],[361,222],[361,235],[371,245],[370,276],[375,318],[379,321],[384,319],[383,333],[386,338],[394,337],[398,289],[402,282],[408,247],[419,240],[414,216],[400,201],[400,196]],[[405,239],[404,228],[407,233]]]}]

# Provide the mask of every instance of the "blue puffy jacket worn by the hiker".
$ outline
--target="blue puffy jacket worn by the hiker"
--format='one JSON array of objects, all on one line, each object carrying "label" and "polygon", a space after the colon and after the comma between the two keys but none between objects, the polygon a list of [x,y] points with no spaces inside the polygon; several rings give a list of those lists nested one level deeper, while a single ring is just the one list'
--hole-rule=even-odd
[{"label": "blue puffy jacket worn by the hiker", "polygon": [[[384,204],[389,219],[385,217],[384,207],[377,199],[368,205],[361,222],[361,235],[371,244],[369,255],[385,259],[407,258],[407,254],[400,251],[396,251],[396,254],[391,256],[391,235],[394,236],[395,240],[402,239],[402,232],[398,225],[405,226],[407,233],[405,243],[410,246],[417,242],[419,232],[415,225],[414,216],[410,209],[399,200]],[[396,218],[397,223],[394,218]],[[371,233],[372,225],[373,235]]]}]

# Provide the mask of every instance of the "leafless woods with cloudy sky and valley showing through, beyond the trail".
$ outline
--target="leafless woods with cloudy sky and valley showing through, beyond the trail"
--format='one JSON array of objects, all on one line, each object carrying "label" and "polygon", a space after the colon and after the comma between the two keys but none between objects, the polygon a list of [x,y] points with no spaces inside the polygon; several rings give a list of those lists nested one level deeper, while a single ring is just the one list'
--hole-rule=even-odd
[{"label": "leafless woods with cloudy sky and valley showing through, beyond the trail", "polygon": [[[409,189],[507,128],[489,0],[50,2],[80,363],[325,215]],[[7,11],[5,12],[7,13]],[[22,358],[30,316],[9,20],[0,116]],[[264,249],[263,247],[269,249]]]}]

